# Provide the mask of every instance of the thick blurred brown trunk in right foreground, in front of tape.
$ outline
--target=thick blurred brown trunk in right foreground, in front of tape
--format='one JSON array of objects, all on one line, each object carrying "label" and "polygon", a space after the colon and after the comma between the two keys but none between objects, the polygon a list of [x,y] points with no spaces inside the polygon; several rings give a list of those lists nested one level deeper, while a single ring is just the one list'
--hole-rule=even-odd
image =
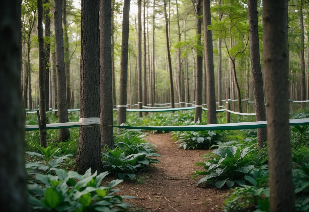
[{"label": "thick blurred brown trunk in right foreground, in front of tape", "polygon": [[263,1],[270,210],[295,211],[292,181],[284,2]]}]

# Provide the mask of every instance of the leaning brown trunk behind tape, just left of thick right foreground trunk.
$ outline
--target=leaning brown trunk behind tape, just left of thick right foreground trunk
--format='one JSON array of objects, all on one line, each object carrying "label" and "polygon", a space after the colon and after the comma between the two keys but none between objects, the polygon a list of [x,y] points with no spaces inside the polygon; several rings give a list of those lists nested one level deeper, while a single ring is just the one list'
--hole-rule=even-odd
[{"label": "leaning brown trunk behind tape, just left of thick right foreground trunk", "polygon": [[[266,120],[264,105],[263,76],[260,64],[260,44],[259,29],[257,20],[256,0],[248,0],[248,20],[250,39],[250,61],[252,70],[252,84],[256,121]],[[257,148],[263,148],[264,141],[267,140],[266,128],[257,129]]]}]

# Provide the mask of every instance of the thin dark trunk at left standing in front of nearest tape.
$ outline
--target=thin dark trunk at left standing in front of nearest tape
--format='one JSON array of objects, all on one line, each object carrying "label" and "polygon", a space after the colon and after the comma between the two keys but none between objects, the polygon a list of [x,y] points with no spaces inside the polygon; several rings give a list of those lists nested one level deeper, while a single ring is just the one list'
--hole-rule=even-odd
[{"label": "thin dark trunk at left standing in front of nearest tape", "polygon": [[[37,0],[38,7],[38,39],[39,39],[39,87],[40,87],[40,111],[37,110],[40,130],[40,145],[46,147],[46,99],[44,87],[44,36],[43,36],[43,0]],[[47,94],[48,95],[48,94]],[[48,106],[48,104],[47,104]],[[48,107],[47,107],[48,108]]]}]

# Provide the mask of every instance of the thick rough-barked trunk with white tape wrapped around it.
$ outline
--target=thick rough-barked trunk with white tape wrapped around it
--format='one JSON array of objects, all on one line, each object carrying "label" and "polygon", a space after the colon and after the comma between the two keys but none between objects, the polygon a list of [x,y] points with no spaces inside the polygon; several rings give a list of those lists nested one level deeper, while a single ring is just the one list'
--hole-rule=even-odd
[{"label": "thick rough-barked trunk with white tape wrapped around it", "polygon": [[[92,118],[100,116],[99,0],[82,0],[81,16],[80,117]],[[100,128],[98,125],[80,125],[74,171],[85,173],[90,167],[92,172],[103,171]]]}]

